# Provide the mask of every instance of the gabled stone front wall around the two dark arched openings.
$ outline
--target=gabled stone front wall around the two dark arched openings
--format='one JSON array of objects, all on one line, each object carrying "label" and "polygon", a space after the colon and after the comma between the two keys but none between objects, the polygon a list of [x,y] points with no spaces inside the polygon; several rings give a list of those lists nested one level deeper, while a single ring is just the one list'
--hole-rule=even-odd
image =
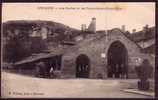
[{"label": "gabled stone front wall around the two dark arched openings", "polygon": [[129,78],[136,78],[135,66],[143,59],[149,59],[154,66],[154,58],[141,53],[141,47],[124,35],[120,29],[112,29],[108,34],[96,33],[95,37],[84,40],[70,47],[62,56],[61,77],[76,78],[76,58],[85,54],[90,60],[89,78],[97,78],[101,75],[107,78],[107,55],[112,43],[119,41],[127,50],[127,64]]}]

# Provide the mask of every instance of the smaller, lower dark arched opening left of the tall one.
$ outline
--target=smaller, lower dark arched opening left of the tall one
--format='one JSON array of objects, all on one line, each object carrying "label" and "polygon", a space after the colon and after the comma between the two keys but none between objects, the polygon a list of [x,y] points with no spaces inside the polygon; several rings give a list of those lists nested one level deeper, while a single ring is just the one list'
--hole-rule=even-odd
[{"label": "smaller, lower dark arched opening left of the tall one", "polygon": [[76,58],[76,77],[88,78],[90,70],[90,60],[87,55],[80,54]]}]

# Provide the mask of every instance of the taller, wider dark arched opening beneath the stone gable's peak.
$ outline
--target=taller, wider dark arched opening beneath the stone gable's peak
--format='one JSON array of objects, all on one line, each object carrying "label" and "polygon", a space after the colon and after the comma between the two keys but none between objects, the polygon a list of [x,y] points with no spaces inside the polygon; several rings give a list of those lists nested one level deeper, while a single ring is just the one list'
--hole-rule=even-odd
[{"label": "taller, wider dark arched opening beneath the stone gable's peak", "polygon": [[128,78],[128,52],[123,43],[114,41],[107,53],[107,76]]}]

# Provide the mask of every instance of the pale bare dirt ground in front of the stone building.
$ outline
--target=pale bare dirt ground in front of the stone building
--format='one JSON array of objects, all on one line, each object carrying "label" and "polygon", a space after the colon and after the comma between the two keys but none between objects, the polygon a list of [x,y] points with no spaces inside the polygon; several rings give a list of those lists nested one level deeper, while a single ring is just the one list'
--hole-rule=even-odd
[{"label": "pale bare dirt ground in front of the stone building", "polygon": [[123,92],[134,79],[44,79],[2,72],[2,98],[152,98]]}]

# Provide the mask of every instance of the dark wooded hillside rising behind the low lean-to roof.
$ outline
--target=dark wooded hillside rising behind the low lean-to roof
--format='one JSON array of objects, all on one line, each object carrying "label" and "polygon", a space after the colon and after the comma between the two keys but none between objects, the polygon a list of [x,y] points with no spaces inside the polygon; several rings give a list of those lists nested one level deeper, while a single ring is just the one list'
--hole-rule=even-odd
[{"label": "dark wooded hillside rising behind the low lean-to roof", "polygon": [[[32,53],[39,53],[48,49],[48,40],[51,40],[55,46],[66,38],[64,32],[70,31],[72,38],[79,35],[80,30],[71,28],[67,25],[42,20],[14,20],[7,21],[3,26],[3,59],[7,62],[16,62]],[[46,41],[39,38],[31,38],[30,35],[34,29],[46,27],[50,37]],[[18,34],[16,34],[18,31]]]}]

